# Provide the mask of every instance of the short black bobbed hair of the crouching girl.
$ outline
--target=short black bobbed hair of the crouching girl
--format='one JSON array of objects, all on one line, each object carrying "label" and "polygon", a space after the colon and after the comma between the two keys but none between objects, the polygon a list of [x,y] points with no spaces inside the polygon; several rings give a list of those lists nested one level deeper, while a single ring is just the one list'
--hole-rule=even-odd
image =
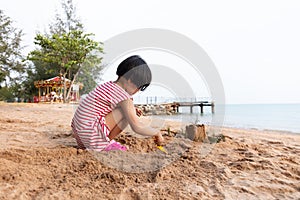
[{"label": "short black bobbed hair of the crouching girl", "polygon": [[147,63],[138,55],[130,56],[123,60],[116,73],[119,78],[131,80],[141,91],[145,90],[151,83],[152,74]]}]

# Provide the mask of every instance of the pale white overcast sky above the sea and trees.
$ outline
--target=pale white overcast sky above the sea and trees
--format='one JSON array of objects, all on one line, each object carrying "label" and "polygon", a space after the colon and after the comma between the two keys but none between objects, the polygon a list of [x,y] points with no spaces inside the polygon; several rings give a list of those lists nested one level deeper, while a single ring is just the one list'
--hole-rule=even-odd
[{"label": "pale white overcast sky above the sea and trees", "polygon": [[[214,62],[226,103],[300,103],[300,2],[297,0],[73,2],[86,31],[94,33],[97,41],[140,28],[168,29],[190,38]],[[15,27],[23,30],[26,54],[34,49],[35,34],[44,32],[61,10],[61,1],[0,0],[0,9],[14,20]],[[174,66],[177,59],[175,63],[188,65],[166,53],[144,54],[147,62]],[[205,82],[203,79],[195,78],[191,84]],[[162,90],[165,89],[153,87],[152,93],[147,91],[145,95]],[[199,95],[207,96],[209,90],[205,88]]]}]

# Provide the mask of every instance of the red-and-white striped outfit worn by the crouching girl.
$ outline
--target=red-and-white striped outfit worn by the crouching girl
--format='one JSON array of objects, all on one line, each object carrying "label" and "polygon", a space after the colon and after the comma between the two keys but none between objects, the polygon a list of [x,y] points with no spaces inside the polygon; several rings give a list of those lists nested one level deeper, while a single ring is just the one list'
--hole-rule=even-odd
[{"label": "red-and-white striped outfit worn by the crouching girl", "polygon": [[131,96],[118,84],[109,81],[97,86],[79,104],[72,119],[72,130],[79,148],[96,151],[109,144],[105,116]]}]

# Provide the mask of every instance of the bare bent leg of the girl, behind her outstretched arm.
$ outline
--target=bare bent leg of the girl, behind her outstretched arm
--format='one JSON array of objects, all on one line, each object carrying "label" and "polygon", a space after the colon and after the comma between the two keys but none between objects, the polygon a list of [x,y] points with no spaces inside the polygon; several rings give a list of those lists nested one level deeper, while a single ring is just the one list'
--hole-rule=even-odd
[{"label": "bare bent leg of the girl, behind her outstretched arm", "polygon": [[108,138],[114,139],[119,135],[128,125],[127,120],[122,114],[122,110],[117,108],[105,116],[106,125],[110,129]]}]

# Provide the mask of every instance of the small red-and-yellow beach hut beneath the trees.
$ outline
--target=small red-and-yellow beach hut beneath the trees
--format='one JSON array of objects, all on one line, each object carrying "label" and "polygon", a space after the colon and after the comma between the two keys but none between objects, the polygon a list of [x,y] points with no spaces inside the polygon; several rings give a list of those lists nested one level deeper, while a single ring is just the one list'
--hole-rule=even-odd
[{"label": "small red-and-yellow beach hut beneath the trees", "polygon": [[[50,101],[62,101],[63,89],[64,89],[64,77],[56,76],[47,80],[39,80],[34,82],[34,86],[38,88],[38,98],[35,102],[50,102]],[[71,80],[66,78],[66,87],[69,89],[71,86]],[[82,89],[83,84],[77,83],[72,85],[71,101],[78,101],[79,89]]]}]

